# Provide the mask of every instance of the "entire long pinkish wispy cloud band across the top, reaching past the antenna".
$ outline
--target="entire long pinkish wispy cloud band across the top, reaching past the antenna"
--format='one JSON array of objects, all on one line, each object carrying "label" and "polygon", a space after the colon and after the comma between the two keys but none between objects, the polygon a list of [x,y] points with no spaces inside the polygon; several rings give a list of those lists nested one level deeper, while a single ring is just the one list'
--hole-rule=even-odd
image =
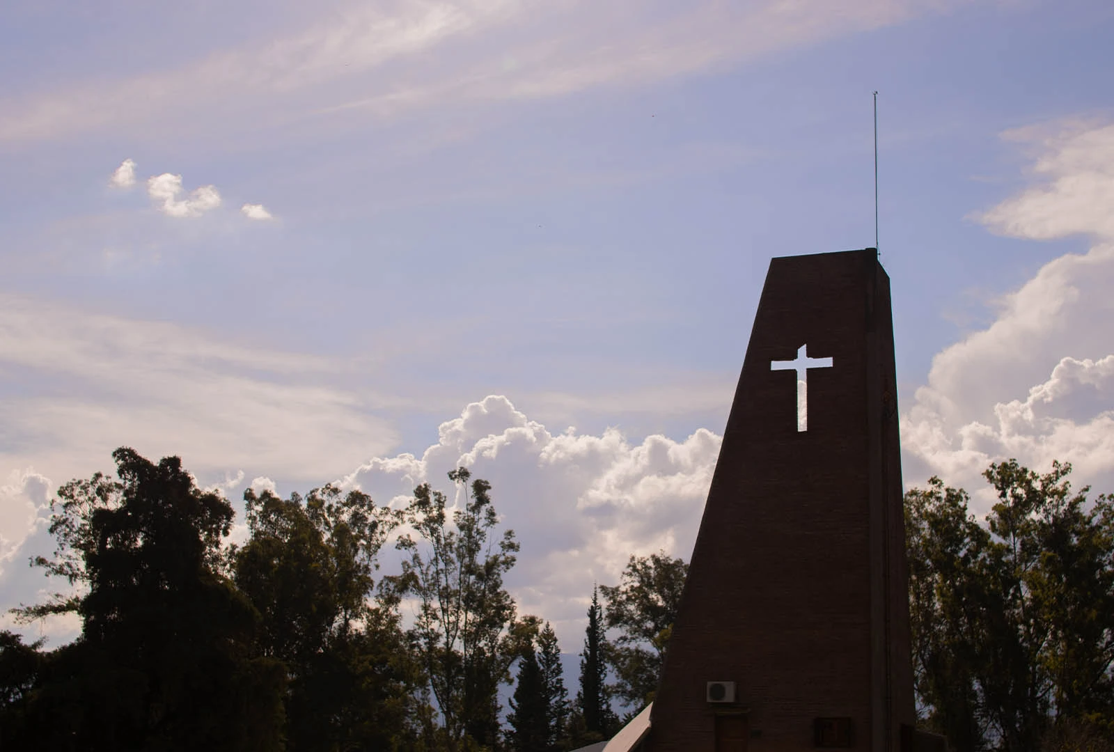
[{"label": "entire long pinkish wispy cloud band across the top, reaching past the antenna", "polygon": [[[554,97],[641,86],[825,38],[876,29],[967,0],[805,3],[703,0],[403,0],[353,6],[267,43],[176,70],[2,102],[0,141],[114,126],[167,127],[221,110],[233,125],[306,114],[384,117],[461,101]],[[676,10],[682,8],[682,10]],[[203,115],[204,114],[204,115]],[[238,114],[238,115],[237,115]]]}]

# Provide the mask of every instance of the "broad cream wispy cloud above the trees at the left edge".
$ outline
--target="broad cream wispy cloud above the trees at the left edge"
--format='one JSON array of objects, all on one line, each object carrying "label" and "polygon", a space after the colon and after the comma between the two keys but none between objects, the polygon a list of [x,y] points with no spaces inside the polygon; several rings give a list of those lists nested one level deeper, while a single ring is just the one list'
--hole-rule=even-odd
[{"label": "broad cream wispy cloud above the trees at the left edge", "polygon": [[[101,467],[121,445],[198,472],[320,477],[395,440],[393,399],[336,379],[368,363],[237,343],[170,323],[0,295],[0,367],[38,378],[0,401],[0,471]],[[16,449],[18,448],[18,449]]]}]

